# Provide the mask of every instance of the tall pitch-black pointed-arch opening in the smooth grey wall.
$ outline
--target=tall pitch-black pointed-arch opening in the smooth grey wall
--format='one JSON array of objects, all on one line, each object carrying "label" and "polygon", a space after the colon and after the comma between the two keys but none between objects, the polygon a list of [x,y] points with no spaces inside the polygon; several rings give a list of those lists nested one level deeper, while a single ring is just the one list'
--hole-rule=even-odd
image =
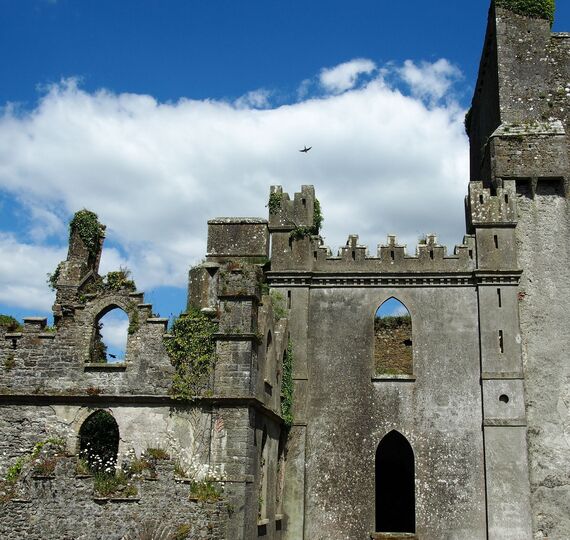
[{"label": "tall pitch-black pointed-arch opening in the smooth grey wall", "polygon": [[376,450],[376,531],[415,533],[414,452],[397,431]]}]

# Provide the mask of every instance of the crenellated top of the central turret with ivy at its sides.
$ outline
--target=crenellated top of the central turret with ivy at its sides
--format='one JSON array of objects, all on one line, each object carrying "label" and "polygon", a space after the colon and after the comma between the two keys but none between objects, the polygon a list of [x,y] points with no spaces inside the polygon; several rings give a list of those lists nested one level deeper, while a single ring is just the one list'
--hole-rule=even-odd
[{"label": "crenellated top of the central turret with ivy at its sides", "polygon": [[[315,224],[315,188],[301,186],[293,200],[282,186],[271,186],[269,194],[269,230],[292,231],[300,227],[313,227]],[[318,229],[318,227],[317,227]]]}]

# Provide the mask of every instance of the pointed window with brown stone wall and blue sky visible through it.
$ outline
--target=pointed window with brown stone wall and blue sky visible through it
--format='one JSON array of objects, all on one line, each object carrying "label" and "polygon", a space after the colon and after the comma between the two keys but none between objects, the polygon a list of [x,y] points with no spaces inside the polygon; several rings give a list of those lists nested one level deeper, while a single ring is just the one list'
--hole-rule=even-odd
[{"label": "pointed window with brown stone wall and blue sky visible through it", "polygon": [[374,368],[376,374],[413,373],[412,318],[395,298],[386,300],[374,317]]}]

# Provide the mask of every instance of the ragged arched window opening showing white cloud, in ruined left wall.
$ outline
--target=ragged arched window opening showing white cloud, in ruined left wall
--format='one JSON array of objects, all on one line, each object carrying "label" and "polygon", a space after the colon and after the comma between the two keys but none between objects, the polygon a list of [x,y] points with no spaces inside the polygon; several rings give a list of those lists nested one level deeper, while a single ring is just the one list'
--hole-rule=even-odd
[{"label": "ragged arched window opening showing white cloud, in ruined left wall", "polygon": [[90,362],[124,362],[127,350],[129,317],[121,308],[103,312],[95,321]]}]

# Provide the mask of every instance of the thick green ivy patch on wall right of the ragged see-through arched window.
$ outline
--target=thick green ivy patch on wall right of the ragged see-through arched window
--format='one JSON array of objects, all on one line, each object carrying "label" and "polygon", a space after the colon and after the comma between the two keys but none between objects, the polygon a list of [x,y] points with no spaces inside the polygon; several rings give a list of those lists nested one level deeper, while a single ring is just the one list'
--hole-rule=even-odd
[{"label": "thick green ivy patch on wall right of the ragged see-through arched window", "polygon": [[172,324],[165,347],[176,368],[171,388],[176,399],[191,400],[207,390],[216,362],[217,330],[217,323],[197,309],[183,313]]}]

